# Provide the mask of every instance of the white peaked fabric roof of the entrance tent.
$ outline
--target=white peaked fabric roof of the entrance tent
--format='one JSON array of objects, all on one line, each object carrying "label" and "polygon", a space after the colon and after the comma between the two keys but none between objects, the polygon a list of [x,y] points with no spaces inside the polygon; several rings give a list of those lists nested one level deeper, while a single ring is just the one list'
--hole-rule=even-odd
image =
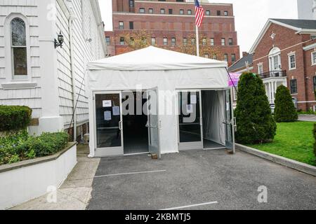
[{"label": "white peaked fabric roof of the entrance tent", "polygon": [[162,48],[147,47],[88,63],[88,70],[147,71],[227,67],[221,62]]}]

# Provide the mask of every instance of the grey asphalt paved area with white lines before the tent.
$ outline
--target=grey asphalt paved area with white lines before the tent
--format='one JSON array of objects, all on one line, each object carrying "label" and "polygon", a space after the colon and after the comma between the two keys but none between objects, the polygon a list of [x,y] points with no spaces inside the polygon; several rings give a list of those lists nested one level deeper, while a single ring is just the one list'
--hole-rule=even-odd
[{"label": "grey asphalt paved area with white lines before the tent", "polygon": [[104,158],[87,209],[316,209],[315,186],[314,176],[242,152]]}]

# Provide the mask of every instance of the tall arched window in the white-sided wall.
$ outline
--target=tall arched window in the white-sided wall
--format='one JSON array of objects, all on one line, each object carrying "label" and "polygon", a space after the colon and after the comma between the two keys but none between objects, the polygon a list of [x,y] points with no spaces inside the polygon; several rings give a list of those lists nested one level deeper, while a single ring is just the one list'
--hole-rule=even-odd
[{"label": "tall arched window in the white-sided wall", "polygon": [[11,28],[11,55],[13,76],[25,78],[27,76],[27,39],[25,22],[21,18],[13,18]]}]

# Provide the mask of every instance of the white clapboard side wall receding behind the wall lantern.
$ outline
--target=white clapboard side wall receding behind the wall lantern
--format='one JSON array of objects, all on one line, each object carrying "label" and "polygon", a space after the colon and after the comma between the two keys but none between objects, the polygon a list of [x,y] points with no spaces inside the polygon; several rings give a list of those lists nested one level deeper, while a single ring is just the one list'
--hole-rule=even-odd
[{"label": "white clapboard side wall receding behind the wall lantern", "polygon": [[[87,62],[105,57],[103,52],[100,34],[98,32],[98,22],[96,21],[91,5],[93,0],[72,0],[72,12],[76,18],[73,22],[73,75],[76,93],[75,101],[77,103],[77,122],[84,123],[88,121],[88,98],[85,90],[85,71]],[[66,2],[66,1],[65,1]],[[81,5],[82,3],[82,5]],[[66,48],[60,51],[63,56],[58,56],[58,78],[59,94],[60,94],[60,115],[64,118],[65,125],[68,125],[72,119],[72,75],[70,64],[69,49],[69,31],[68,20],[62,8],[58,6],[58,30],[62,31],[65,37]],[[87,38],[91,38],[92,42],[88,43]]]}]

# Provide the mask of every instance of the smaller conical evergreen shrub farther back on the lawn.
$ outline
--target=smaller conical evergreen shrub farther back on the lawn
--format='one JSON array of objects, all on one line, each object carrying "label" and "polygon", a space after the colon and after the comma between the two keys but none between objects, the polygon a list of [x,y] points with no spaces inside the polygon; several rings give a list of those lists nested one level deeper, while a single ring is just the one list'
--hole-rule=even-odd
[{"label": "smaller conical evergreen shrub farther back on the lawn", "polygon": [[294,122],[298,113],[292,101],[289,89],[284,85],[277,87],[275,95],[275,120],[279,122]]}]

